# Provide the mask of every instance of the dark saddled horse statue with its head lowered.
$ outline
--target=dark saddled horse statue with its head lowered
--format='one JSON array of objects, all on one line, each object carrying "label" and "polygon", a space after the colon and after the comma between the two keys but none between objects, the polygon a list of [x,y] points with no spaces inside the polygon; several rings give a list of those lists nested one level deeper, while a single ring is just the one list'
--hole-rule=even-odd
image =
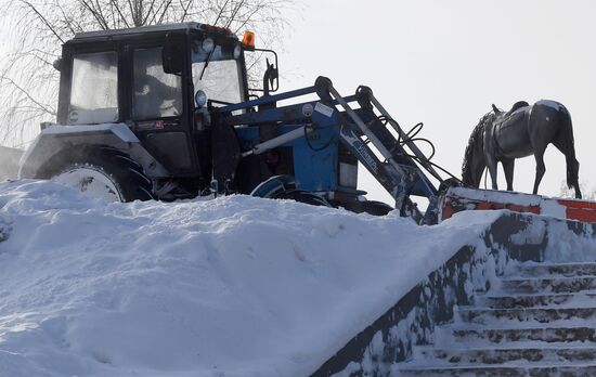
[{"label": "dark saddled horse statue with its head lowered", "polygon": [[575,197],[582,193],[578,183],[580,164],[575,159],[571,116],[558,102],[539,101],[532,106],[520,101],[505,113],[493,105],[493,110],[484,115],[474,129],[462,168],[463,182],[478,187],[484,169],[489,169],[492,188],[496,184],[496,165],[501,162],[505,171],[507,190],[514,190],[514,164],[516,158],[534,155],[536,176],[533,194],[546,171],[544,151],[553,143],[567,160],[567,185],[575,188]]}]

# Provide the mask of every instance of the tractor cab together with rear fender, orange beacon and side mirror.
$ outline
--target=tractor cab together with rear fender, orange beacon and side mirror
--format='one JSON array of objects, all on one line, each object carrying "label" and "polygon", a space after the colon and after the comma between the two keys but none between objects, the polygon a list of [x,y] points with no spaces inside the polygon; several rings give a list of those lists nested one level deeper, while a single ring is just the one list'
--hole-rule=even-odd
[{"label": "tractor cab together with rear fender, orange beacon and side mirror", "polygon": [[[76,35],[54,63],[60,126],[36,140],[21,177],[54,178],[59,167],[87,162],[89,150],[108,146],[140,164],[153,197],[196,196],[212,181],[213,109],[249,98],[244,52],[257,50],[254,41],[250,31],[241,41],[230,29],[198,23]],[[267,94],[273,74],[268,65]],[[215,151],[220,162],[239,153],[226,131],[225,151]]]}]

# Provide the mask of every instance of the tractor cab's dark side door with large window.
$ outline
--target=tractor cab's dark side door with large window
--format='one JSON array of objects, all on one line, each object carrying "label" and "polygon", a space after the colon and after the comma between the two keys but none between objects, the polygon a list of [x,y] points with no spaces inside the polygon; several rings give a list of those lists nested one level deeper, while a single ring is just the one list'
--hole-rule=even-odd
[{"label": "tractor cab's dark side door with large window", "polygon": [[[129,114],[134,131],[145,148],[172,176],[196,176],[197,162],[191,133],[187,63],[181,74],[166,73],[163,51],[165,39],[150,42],[146,38],[126,47],[129,62]],[[187,54],[184,37],[168,40]],[[179,43],[179,44],[178,44]]]}]

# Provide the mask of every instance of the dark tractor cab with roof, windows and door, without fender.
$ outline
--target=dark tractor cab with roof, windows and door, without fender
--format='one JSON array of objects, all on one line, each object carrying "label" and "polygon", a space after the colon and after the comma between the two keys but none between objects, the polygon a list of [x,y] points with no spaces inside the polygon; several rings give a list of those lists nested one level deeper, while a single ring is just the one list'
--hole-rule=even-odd
[{"label": "dark tractor cab with roof, windows and door, without fender", "polygon": [[124,122],[170,174],[209,170],[195,113],[248,98],[244,50],[229,29],[197,23],[79,34],[59,63],[57,122]]}]

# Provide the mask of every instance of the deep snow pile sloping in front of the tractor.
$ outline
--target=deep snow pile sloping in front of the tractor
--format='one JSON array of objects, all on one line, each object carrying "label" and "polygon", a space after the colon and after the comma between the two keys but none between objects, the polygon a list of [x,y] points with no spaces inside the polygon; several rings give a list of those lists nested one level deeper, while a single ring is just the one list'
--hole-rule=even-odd
[{"label": "deep snow pile sloping in front of the tractor", "polygon": [[105,204],[0,183],[0,376],[305,376],[498,213]]}]

